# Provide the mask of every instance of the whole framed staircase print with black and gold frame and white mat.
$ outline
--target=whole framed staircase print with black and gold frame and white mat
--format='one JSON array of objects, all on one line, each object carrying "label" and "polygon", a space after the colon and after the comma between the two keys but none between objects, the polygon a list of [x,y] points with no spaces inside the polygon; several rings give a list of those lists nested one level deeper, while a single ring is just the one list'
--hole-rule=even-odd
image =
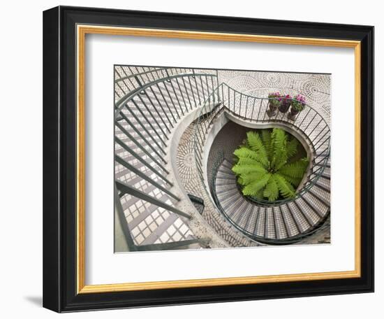
[{"label": "whole framed staircase print with black and gold frame and white mat", "polygon": [[43,306],[374,291],[374,28],[43,15]]}]

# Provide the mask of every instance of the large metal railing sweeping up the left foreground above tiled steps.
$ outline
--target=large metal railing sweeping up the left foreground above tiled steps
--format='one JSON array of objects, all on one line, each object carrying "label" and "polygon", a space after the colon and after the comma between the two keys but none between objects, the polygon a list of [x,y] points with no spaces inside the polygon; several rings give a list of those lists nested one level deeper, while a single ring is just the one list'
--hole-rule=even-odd
[{"label": "large metal railing sweeping up the left foreground above tiled steps", "polygon": [[[191,239],[192,235],[175,242],[152,242],[151,235],[142,230],[144,224],[142,229],[136,224],[142,218],[138,209],[155,211],[156,220],[163,215],[165,223],[175,220],[176,215],[184,218],[182,222],[191,219],[177,206],[180,198],[168,179],[165,147],[183,116],[202,104],[217,87],[217,73],[130,66],[116,66],[115,72],[115,206],[129,249],[204,245],[200,239]],[[149,211],[149,217],[154,216]],[[175,217],[169,219],[169,214]],[[163,225],[162,229],[167,228]]]}]

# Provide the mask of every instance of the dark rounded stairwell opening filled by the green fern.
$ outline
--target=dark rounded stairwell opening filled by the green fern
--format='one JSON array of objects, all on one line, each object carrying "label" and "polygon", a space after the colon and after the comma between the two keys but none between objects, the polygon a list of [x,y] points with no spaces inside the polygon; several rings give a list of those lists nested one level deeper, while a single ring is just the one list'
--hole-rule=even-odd
[{"label": "dark rounded stairwell opening filled by the green fern", "polygon": [[302,188],[311,169],[309,149],[281,127],[249,128],[230,121],[209,150],[207,178],[214,185],[224,161],[243,197],[258,205],[278,204]]}]

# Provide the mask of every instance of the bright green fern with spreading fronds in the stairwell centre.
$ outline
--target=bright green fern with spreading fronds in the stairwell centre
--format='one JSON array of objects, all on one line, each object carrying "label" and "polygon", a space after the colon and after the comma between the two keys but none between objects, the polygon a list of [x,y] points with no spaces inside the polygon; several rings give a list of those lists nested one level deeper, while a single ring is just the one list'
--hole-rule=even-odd
[{"label": "bright green fern with spreading fronds in the stairwell centre", "polygon": [[299,142],[283,129],[248,132],[244,145],[235,150],[232,171],[244,196],[275,201],[295,197],[309,161],[295,160]]}]

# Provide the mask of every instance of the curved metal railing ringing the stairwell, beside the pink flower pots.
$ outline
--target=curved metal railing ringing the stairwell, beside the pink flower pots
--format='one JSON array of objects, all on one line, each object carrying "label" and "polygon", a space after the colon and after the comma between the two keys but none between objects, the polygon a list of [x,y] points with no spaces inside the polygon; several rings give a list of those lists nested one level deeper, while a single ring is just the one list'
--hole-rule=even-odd
[{"label": "curved metal railing ringing the stairwell, beside the pink flower pots", "polygon": [[[210,101],[212,101],[212,97],[216,97],[216,101],[217,97],[219,97],[219,103],[210,103]],[[328,161],[330,160],[330,127],[327,125],[327,122],[323,119],[320,113],[318,113],[318,111],[311,108],[311,106],[308,104],[304,106],[304,109],[299,114],[297,114],[294,120],[290,120],[288,118],[288,112],[281,113],[277,111],[276,115],[269,117],[267,114],[269,100],[270,99],[268,98],[251,97],[249,95],[243,94],[242,92],[232,89],[226,85],[226,83],[221,83],[221,85],[219,85],[206,100],[204,107],[202,107],[200,110],[200,114],[196,117],[197,125],[195,125],[194,134],[194,153],[198,176],[202,185],[205,185],[204,189],[207,194],[209,194],[209,180],[206,180],[204,173],[204,146],[205,137],[208,134],[209,127],[212,124],[212,119],[209,120],[209,114],[212,113],[212,111],[214,111],[216,108],[221,108],[227,113],[230,113],[230,115],[234,116],[235,118],[239,118],[240,120],[250,123],[265,125],[277,124],[290,127],[290,129],[299,132],[300,136],[304,136],[304,139],[312,149],[313,158],[311,160],[311,166],[309,166],[309,172],[307,173],[307,180],[305,180],[300,189],[297,190],[295,197],[279,199],[276,201],[253,199],[253,201],[256,201],[256,204],[272,207],[288,204],[291,201],[295,201],[298,198],[303,197],[307,192],[311,190],[311,187],[316,185],[318,178],[322,176],[323,171],[327,167]],[[214,201],[217,201],[217,198],[214,196],[214,194],[211,193],[211,195],[214,197]],[[252,200],[251,198],[247,199]],[[223,211],[223,208],[218,205],[217,202],[216,206],[218,206],[219,211],[226,215],[226,213]],[[230,220],[228,215],[226,215],[226,218]],[[231,220],[230,222],[233,224]],[[321,226],[320,224],[322,225],[322,223],[319,223],[316,225],[316,229],[311,229],[309,232],[300,234],[300,236],[296,236],[297,238],[295,239],[300,240],[305,236],[313,234],[313,232],[315,232],[315,230]],[[244,233],[247,233],[245,229],[240,230],[242,230]]]}]

